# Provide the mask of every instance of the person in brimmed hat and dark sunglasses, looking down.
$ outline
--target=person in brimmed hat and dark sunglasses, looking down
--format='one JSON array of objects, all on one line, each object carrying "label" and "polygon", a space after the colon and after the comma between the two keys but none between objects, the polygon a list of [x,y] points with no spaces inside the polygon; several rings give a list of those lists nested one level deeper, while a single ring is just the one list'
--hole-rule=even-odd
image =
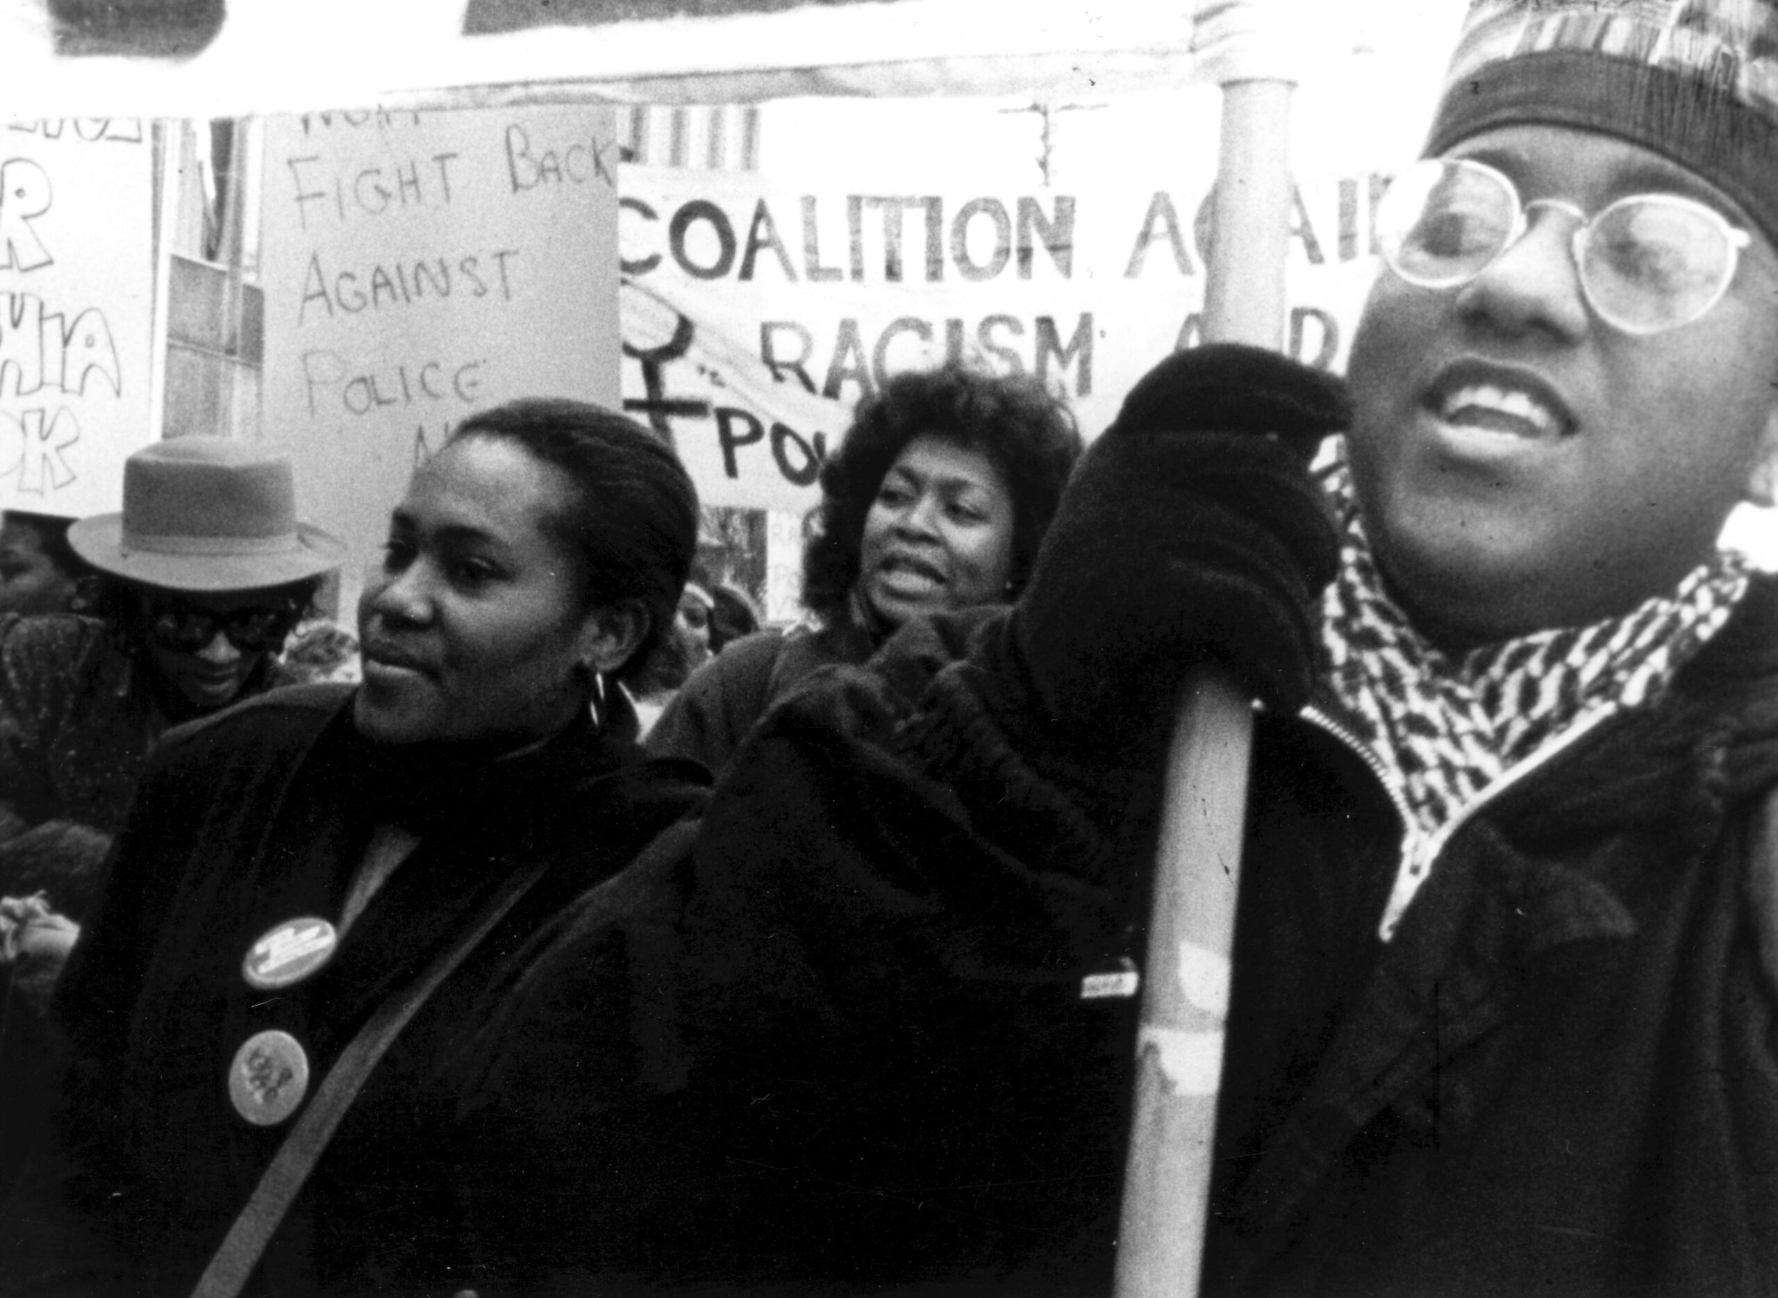
[{"label": "person in brimmed hat and dark sunglasses, looking down", "polygon": [[311,676],[279,651],[345,549],[293,494],[252,443],[148,446],[123,512],[68,533],[101,574],[94,615],[0,619],[0,893],[78,921],[160,733]]}]

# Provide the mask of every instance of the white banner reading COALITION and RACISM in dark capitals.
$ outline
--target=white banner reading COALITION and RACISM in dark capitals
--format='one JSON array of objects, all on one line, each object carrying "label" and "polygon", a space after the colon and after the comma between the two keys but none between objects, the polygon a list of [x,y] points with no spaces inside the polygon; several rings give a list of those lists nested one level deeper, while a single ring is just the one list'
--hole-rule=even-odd
[{"label": "white banner reading COALITION and RACISM in dark capitals", "polygon": [[[624,405],[711,505],[804,510],[852,405],[967,357],[1035,373],[1090,437],[1197,341],[1211,178],[1122,192],[843,192],[626,167]],[[1287,349],[1341,366],[1374,274],[1374,174],[1301,178]]]}]

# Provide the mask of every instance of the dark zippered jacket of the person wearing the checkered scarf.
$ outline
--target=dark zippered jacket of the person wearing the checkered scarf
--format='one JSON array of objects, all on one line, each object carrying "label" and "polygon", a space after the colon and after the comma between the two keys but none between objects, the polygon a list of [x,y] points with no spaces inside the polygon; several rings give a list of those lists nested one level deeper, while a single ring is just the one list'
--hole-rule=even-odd
[{"label": "dark zippered jacket of the person wearing the checkered scarf", "polygon": [[[1136,1001],[1081,992],[1143,962],[1161,789],[1045,734],[1003,626],[795,692],[651,921],[688,1277],[1109,1291]],[[1205,1291],[1778,1291],[1778,581],[1465,818],[1387,944],[1401,816],[1335,729],[1257,724]]]}]

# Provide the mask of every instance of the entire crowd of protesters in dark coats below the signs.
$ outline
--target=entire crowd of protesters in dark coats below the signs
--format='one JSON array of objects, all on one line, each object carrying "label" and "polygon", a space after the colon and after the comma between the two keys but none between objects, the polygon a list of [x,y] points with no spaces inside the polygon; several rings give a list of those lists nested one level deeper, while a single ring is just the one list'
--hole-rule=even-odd
[{"label": "entire crowd of protesters in dark coats below the signs", "polygon": [[9,521],[0,1293],[1109,1294],[1205,665],[1204,1293],[1778,1293],[1778,576],[1719,546],[1778,496],[1774,50],[1478,0],[1344,377],[1179,352],[1085,452],[891,379],[795,629],[565,400],[416,468],[361,679],[290,679],[341,548],[252,443]]}]

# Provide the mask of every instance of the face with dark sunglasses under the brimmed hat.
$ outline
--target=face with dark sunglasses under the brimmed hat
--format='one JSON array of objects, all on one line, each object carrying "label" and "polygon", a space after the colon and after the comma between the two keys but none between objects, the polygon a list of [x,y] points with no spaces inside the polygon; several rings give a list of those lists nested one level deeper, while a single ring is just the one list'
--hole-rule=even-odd
[{"label": "face with dark sunglasses under the brimmed hat", "polygon": [[265,590],[142,590],[137,599],[155,670],[203,711],[235,702],[295,622],[290,603]]}]

